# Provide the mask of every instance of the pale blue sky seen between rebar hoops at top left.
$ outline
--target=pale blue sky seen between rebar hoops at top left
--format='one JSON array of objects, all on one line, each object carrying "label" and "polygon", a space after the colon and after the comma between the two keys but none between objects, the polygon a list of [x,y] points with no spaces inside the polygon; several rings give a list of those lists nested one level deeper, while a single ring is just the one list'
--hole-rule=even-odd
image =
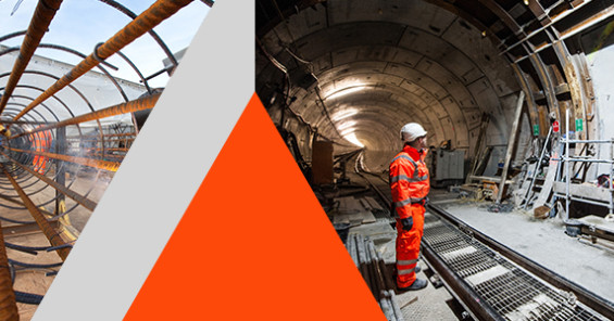
[{"label": "pale blue sky seen between rebar hoops at top left", "polygon": [[[23,0],[16,12],[11,15],[18,1],[0,0],[0,36],[27,29],[38,1]],[[116,2],[138,15],[155,1],[116,0]],[[195,0],[153,30],[172,52],[178,52],[189,46],[209,10],[210,8],[202,1]],[[124,13],[98,0],[64,0],[41,43],[61,44],[87,55],[93,51],[97,43],[106,41],[130,21]],[[23,39],[24,37],[16,37],[0,44],[18,47]],[[162,69],[164,67],[162,60],[166,57],[153,38],[147,34],[122,49],[122,53],[135,63],[145,77]],[[51,49],[38,49],[35,54],[73,65],[82,60],[76,55]],[[109,69],[113,76],[139,81],[136,73],[116,54],[106,62],[120,68],[116,72]],[[151,79],[149,84],[151,87],[164,87],[167,80],[168,77],[164,74]]]}]

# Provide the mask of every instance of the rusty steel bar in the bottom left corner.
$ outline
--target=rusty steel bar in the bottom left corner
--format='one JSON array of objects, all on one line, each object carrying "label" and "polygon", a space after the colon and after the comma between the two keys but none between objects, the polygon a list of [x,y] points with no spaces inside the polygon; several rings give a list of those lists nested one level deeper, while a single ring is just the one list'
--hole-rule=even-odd
[{"label": "rusty steel bar in the bottom left corner", "polygon": [[20,320],[17,305],[15,303],[15,292],[9,269],[9,257],[4,247],[4,234],[0,224],[0,320]]}]

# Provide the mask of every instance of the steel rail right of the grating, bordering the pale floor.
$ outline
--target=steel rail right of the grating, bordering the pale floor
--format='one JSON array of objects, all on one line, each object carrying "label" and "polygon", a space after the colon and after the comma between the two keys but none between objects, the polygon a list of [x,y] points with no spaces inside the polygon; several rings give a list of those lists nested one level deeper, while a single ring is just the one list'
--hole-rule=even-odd
[{"label": "steel rail right of the grating, bordering the pale floor", "polygon": [[[486,246],[492,248],[493,251],[500,253],[505,258],[510,259],[514,264],[521,266],[525,270],[528,270],[532,274],[537,275],[539,279],[550,283],[551,285],[559,287],[560,290],[573,293],[578,301],[593,309],[598,313],[606,317],[610,320],[614,320],[614,304],[606,300],[605,298],[591,293],[581,285],[578,285],[562,275],[544,268],[543,266],[530,260],[526,256],[514,252],[513,249],[506,247],[505,245],[490,239],[486,234],[468,227],[458,218],[451,216],[444,211],[439,206],[427,204],[427,207],[433,213],[437,214],[439,217],[446,219],[454,226],[462,227],[464,230],[472,232],[473,237],[477,241],[484,243]],[[480,319],[481,320],[481,319]]]}]

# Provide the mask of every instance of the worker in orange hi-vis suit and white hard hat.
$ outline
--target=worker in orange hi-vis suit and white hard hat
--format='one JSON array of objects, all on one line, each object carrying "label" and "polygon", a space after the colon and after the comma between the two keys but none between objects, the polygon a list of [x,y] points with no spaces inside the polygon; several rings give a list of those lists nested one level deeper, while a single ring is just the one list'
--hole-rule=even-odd
[{"label": "worker in orange hi-vis suit and white hard hat", "polygon": [[397,218],[397,286],[400,291],[426,287],[417,279],[419,243],[424,232],[424,204],[430,190],[426,156],[426,130],[416,123],[401,129],[403,151],[390,163],[390,189]]}]

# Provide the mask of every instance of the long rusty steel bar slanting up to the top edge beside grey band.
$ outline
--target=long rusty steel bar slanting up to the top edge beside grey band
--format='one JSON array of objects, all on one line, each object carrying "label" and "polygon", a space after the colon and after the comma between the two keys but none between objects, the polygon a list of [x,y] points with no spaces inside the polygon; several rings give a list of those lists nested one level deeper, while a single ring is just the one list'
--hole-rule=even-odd
[{"label": "long rusty steel bar slanting up to the top edge beside grey band", "polygon": [[103,61],[128,43],[133,42],[145,33],[149,31],[162,21],[175,14],[179,9],[188,5],[192,0],[159,0],[150,8],[139,14],[134,21],[127,24],[122,30],[117,31],[106,42],[103,42],[95,49],[95,52],[83,60],[78,65],[71,69],[55,84],[51,85],[45,92],[36,98],[29,105],[21,111],[13,120],[20,119],[23,115],[38,106],[41,102],[46,101],[58,91],[62,90],[68,84],[73,82],[80,76],[85,75],[91,68]]}]

